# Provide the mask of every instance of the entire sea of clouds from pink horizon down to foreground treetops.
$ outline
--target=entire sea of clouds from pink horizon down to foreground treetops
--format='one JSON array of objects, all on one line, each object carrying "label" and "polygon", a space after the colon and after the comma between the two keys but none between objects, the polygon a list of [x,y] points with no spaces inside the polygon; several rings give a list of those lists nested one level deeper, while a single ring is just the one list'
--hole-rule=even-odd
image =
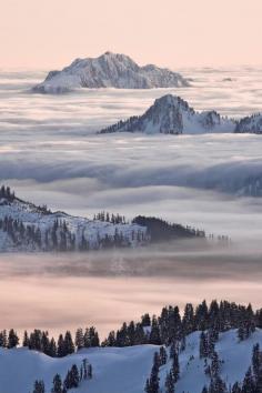
[{"label": "entire sea of clouds from pink horizon down to foreground treetops", "polygon": [[[192,88],[169,92],[198,110],[234,118],[261,111],[261,69],[181,72]],[[0,71],[1,181],[53,210],[157,215],[229,234],[233,243],[222,250],[175,243],[139,253],[2,255],[1,328],[58,332],[97,324],[105,334],[169,303],[228,298],[259,306],[262,199],[241,194],[243,184],[262,177],[262,137],[98,135],[104,125],[143,113],[167,90],[32,94],[46,73]]]}]

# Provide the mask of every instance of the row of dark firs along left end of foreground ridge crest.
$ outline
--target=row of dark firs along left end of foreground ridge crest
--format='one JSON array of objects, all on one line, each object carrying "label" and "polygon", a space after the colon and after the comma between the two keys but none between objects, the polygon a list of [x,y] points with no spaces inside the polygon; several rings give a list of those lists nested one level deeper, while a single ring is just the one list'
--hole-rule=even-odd
[{"label": "row of dark firs along left end of foreground ridge crest", "polygon": [[[19,345],[19,336],[13,329],[0,332],[0,346],[12,349]],[[74,340],[69,331],[66,334],[59,334],[58,341],[49,337],[47,331],[34,329],[30,334],[26,331],[22,345],[29,350],[44,353],[51,357],[63,357],[83,347],[93,347],[100,345],[99,334],[95,328],[87,328],[84,331],[79,328]]]}]

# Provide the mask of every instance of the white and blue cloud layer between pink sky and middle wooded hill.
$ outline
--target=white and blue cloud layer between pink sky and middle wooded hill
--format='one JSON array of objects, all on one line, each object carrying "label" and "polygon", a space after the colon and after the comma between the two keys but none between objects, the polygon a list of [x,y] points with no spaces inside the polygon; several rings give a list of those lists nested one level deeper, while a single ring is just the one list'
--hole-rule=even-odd
[{"label": "white and blue cloud layer between pink sky and middle wooded hill", "polygon": [[[240,118],[262,107],[255,68],[182,70],[188,89],[168,89],[198,109]],[[260,135],[98,135],[141,114],[164,89],[32,94],[46,72],[0,71],[0,178],[17,193],[72,214],[154,214],[233,238],[260,238]],[[229,80],[231,79],[231,80]]]}]

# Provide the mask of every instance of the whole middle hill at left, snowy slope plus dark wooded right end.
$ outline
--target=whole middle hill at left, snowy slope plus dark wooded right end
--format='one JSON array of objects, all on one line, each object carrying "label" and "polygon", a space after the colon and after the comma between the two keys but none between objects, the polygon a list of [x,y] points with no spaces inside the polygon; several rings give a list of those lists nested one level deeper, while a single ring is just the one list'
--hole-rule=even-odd
[{"label": "whole middle hill at left, snowy slope plus dark wooded right end", "polygon": [[90,220],[52,212],[46,205],[22,201],[8,187],[0,189],[0,252],[134,248],[195,236],[205,234],[160,219],[138,216],[128,222],[120,214],[100,212]]}]

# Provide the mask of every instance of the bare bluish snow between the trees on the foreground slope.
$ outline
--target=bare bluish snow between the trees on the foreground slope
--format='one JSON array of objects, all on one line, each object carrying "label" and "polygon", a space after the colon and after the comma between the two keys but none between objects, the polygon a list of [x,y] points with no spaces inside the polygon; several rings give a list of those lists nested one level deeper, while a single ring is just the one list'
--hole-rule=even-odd
[{"label": "bare bluish snow between the trees on the foreground slope", "polygon": [[[199,337],[200,332],[187,337],[185,350],[180,354],[180,380],[175,384],[175,393],[201,393],[210,382],[204,373],[204,360],[199,357]],[[215,351],[223,361],[220,375],[228,385],[244,379],[256,343],[262,345],[261,330],[243,342],[239,342],[234,330],[220,334]],[[81,350],[62,359],[51,359],[27,349],[0,349],[0,393],[28,393],[32,391],[34,380],[43,380],[49,393],[54,374],[59,373],[63,379],[72,364],[80,366],[83,359],[92,364],[93,379],[82,382],[73,392],[143,393],[155,351],[159,351],[159,346],[97,347]],[[169,360],[160,369],[161,392],[165,391],[164,380],[171,364]]]}]

